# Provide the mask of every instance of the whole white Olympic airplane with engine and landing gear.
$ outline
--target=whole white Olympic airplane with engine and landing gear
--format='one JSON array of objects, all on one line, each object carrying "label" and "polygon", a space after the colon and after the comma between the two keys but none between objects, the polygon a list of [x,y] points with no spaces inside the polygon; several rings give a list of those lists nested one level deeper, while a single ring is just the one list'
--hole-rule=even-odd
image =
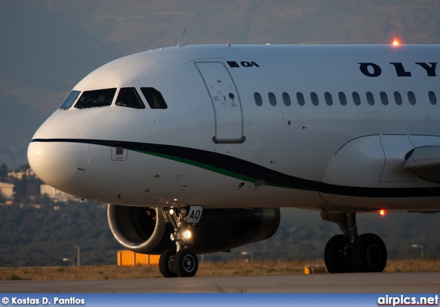
[{"label": "whole white Olympic airplane with engine and landing gear", "polygon": [[440,211],[438,45],[178,45],[113,60],[36,131],[32,170],[109,203],[131,251],[192,277],[197,254],[270,238],[281,207],[342,230],[331,273],[381,272],[356,214]]}]

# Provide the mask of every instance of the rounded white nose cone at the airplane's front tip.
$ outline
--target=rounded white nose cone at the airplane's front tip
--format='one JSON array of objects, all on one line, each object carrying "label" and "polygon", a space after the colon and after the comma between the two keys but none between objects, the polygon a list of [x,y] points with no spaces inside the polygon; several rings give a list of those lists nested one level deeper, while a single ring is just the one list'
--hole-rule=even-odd
[{"label": "rounded white nose cone at the airplane's front tip", "polygon": [[41,180],[68,193],[87,170],[87,133],[68,122],[45,123],[29,144],[28,161]]}]

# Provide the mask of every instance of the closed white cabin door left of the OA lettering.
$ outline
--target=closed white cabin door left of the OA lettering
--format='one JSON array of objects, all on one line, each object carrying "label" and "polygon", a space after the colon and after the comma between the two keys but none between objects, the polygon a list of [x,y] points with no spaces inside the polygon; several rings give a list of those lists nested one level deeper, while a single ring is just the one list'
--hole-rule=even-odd
[{"label": "closed white cabin door left of the OA lettering", "polygon": [[215,144],[243,143],[243,111],[239,92],[228,69],[221,62],[195,63],[206,89],[215,117]]}]

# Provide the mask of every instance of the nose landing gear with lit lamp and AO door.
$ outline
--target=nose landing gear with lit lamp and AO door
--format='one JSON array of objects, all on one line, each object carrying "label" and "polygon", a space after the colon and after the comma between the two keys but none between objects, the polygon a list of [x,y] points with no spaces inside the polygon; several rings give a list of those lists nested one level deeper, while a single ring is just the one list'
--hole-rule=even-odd
[{"label": "nose landing gear with lit lamp and AO door", "polygon": [[159,258],[159,271],[164,277],[192,277],[197,273],[199,260],[197,255],[187,245],[192,242],[192,227],[198,223],[201,207],[162,208],[167,223],[174,226],[171,240],[175,241],[175,249],[167,249]]}]

